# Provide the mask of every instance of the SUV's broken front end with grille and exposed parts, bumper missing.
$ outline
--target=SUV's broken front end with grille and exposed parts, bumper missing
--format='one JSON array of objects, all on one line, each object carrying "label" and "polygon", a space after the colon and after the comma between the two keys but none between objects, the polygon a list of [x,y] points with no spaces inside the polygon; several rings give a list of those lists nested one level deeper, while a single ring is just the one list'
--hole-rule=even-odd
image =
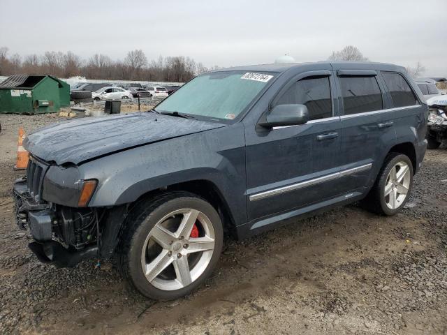
[{"label": "SUV's broken front end with grille and exposed parts, bumper missing", "polygon": [[81,201],[87,205],[94,191],[90,190],[87,197],[84,189],[88,183],[82,182],[59,193],[68,204],[76,199],[75,206],[48,201],[43,185],[48,185],[47,188],[55,185],[51,179],[45,179],[50,168],[52,165],[31,156],[27,176],[14,183],[17,225],[22,230],[29,230],[35,240],[29,248],[38,260],[57,267],[73,267],[88,258],[110,258],[117,245],[126,208],[79,207]]}]

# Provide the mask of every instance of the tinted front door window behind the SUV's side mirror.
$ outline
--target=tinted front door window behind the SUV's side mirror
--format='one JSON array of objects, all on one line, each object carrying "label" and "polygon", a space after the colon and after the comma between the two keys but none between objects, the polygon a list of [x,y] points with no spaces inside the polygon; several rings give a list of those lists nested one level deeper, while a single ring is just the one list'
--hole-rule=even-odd
[{"label": "tinted front door window behind the SUV's side mirror", "polygon": [[308,77],[295,82],[276,104],[306,105],[309,120],[332,117],[329,77]]}]

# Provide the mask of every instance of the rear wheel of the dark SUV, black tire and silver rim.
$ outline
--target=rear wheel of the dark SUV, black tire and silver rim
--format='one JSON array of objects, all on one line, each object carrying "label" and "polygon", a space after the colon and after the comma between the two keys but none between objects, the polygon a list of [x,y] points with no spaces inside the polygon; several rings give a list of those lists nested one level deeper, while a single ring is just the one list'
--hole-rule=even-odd
[{"label": "rear wheel of the dark SUV, black tire and silver rim", "polygon": [[362,205],[376,214],[393,216],[404,208],[413,186],[413,164],[408,156],[388,154],[376,182]]}]

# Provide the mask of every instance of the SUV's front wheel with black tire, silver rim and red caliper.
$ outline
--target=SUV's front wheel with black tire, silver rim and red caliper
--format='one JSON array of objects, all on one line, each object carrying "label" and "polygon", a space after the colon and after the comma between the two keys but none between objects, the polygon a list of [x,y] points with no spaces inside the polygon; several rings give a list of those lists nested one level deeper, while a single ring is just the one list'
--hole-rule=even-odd
[{"label": "SUV's front wheel with black tire, silver rim and red caliper", "polygon": [[210,203],[192,193],[164,193],[131,210],[118,265],[142,295],[177,299],[210,276],[222,245],[221,219]]}]

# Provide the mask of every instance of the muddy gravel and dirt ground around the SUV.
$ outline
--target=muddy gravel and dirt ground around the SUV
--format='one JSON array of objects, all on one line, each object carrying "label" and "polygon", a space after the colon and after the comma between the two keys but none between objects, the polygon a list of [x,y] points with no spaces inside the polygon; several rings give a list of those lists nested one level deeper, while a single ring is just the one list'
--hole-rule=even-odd
[{"label": "muddy gravel and dirt ground around the SUV", "polygon": [[108,263],[41,265],[15,226],[17,128],[60,120],[0,115],[1,333],[447,334],[447,149],[427,152],[402,214],[351,205],[227,241],[206,285],[156,302]]}]

